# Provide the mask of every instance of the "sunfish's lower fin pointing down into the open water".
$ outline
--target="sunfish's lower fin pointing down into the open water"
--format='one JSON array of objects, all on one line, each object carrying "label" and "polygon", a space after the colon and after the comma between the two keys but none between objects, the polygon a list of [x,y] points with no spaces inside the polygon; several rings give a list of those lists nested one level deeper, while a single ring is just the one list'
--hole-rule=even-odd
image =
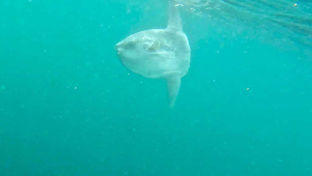
[{"label": "sunfish's lower fin pointing down into the open water", "polygon": [[174,103],[179,94],[180,86],[181,86],[181,78],[179,76],[173,75],[166,78],[167,83],[167,91],[169,98],[169,107],[173,108]]}]

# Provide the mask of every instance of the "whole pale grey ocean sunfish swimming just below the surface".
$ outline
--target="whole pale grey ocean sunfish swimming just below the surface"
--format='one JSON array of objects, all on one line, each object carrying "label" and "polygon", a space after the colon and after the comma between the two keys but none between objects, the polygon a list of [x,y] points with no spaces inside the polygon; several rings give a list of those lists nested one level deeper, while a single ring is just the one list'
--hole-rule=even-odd
[{"label": "whole pale grey ocean sunfish swimming just below the surface", "polygon": [[124,67],[144,77],[166,80],[170,108],[174,106],[191,57],[177,6],[173,0],[169,3],[167,28],[140,31],[115,45]]}]

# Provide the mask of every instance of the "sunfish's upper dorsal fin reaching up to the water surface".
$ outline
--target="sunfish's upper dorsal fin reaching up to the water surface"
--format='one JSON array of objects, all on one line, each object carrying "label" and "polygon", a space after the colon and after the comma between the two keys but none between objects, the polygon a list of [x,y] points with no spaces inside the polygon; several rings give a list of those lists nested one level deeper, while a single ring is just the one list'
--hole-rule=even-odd
[{"label": "sunfish's upper dorsal fin reaching up to the water surface", "polygon": [[168,9],[169,9],[169,20],[167,29],[182,32],[183,31],[182,20],[180,13],[178,11],[178,7],[176,6],[174,0],[170,0]]}]

